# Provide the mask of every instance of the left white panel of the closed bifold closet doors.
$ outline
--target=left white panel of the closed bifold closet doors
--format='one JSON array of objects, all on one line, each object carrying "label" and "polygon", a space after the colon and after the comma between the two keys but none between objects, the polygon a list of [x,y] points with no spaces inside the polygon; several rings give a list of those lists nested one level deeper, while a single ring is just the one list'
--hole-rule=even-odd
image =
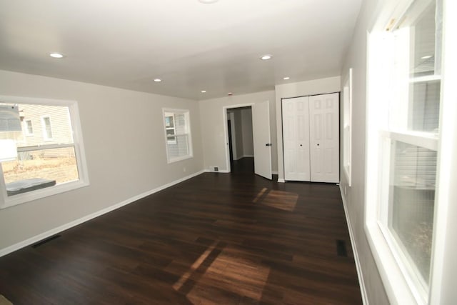
[{"label": "left white panel of the closed bifold closet doors", "polygon": [[284,179],[310,181],[308,96],[283,99]]}]

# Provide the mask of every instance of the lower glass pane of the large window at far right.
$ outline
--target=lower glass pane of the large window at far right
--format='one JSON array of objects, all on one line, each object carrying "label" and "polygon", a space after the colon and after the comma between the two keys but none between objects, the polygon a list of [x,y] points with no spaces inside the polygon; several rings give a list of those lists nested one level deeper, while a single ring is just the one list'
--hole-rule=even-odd
[{"label": "lower glass pane of the large window at far right", "polygon": [[436,151],[393,141],[388,226],[406,264],[426,283],[430,274],[436,186]]}]

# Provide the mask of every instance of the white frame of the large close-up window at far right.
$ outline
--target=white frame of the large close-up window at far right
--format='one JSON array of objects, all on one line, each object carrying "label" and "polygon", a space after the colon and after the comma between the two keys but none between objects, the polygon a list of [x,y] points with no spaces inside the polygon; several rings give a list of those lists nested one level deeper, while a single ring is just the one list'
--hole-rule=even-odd
[{"label": "white frame of the large close-up window at far right", "polygon": [[[424,1],[422,1],[424,2]],[[442,5],[446,7],[448,0],[443,0]],[[407,11],[413,1],[401,1],[386,5],[378,16],[378,20],[373,25],[371,31],[367,32],[367,104],[366,104],[366,193],[365,193],[365,232],[370,245],[373,258],[378,266],[378,271],[381,279],[392,303],[397,304],[439,304],[441,275],[443,273],[443,263],[441,259],[444,256],[443,249],[446,236],[446,221],[448,221],[448,194],[450,193],[449,185],[439,182],[443,181],[443,176],[448,180],[448,169],[446,166],[441,166],[441,162],[450,157],[450,144],[456,131],[451,131],[444,128],[446,124],[450,124],[455,120],[454,112],[445,111],[443,109],[455,109],[455,101],[452,97],[453,84],[457,79],[456,73],[448,69],[441,72],[441,103],[439,116],[438,133],[421,132],[421,131],[404,131],[390,129],[388,126],[389,107],[383,106],[386,99],[390,100],[389,90],[383,84],[391,81],[389,79],[393,70],[385,69],[386,66],[391,66],[386,58],[392,58],[393,54],[388,54],[392,50],[393,40],[388,37],[388,28],[395,26],[395,22],[401,21],[401,16]],[[451,14],[448,13],[447,17]],[[400,17],[400,18],[398,18]],[[453,18],[453,17],[452,17]],[[446,28],[451,29],[451,18],[446,19],[446,12],[443,11],[443,49],[441,50],[441,66],[445,67],[447,62],[455,62],[451,54],[455,51],[453,43],[456,42],[451,31],[446,31]],[[446,41],[449,41],[446,44]],[[454,48],[455,49],[455,48]],[[387,51],[386,51],[387,50]],[[448,54],[449,57],[446,56]],[[379,79],[384,81],[379,82]],[[432,77],[433,79],[433,77]],[[416,81],[421,81],[420,78]],[[383,83],[383,84],[380,84]],[[408,106],[410,106],[408,104]],[[369,123],[368,123],[369,122]],[[383,164],[386,156],[383,156],[380,150],[383,148],[383,141],[391,139],[393,141],[403,141],[417,146],[436,150],[438,153],[438,164],[436,166],[436,194],[435,194],[435,212],[433,220],[433,244],[431,248],[431,269],[428,283],[428,291],[421,291],[421,287],[417,287],[417,281],[411,279],[410,271],[407,266],[401,264],[402,257],[398,251],[393,251],[396,245],[395,239],[391,238],[391,234],[383,226],[382,217],[386,217],[387,206],[381,206],[380,202],[386,200],[381,198],[386,190],[380,190],[379,185],[383,183],[383,179],[388,179],[383,176],[379,164]],[[443,148],[447,149],[443,149]],[[385,149],[385,148],[384,148]],[[390,156],[389,156],[390,158]],[[444,163],[443,163],[444,164]],[[424,293],[425,292],[425,293]]]}]

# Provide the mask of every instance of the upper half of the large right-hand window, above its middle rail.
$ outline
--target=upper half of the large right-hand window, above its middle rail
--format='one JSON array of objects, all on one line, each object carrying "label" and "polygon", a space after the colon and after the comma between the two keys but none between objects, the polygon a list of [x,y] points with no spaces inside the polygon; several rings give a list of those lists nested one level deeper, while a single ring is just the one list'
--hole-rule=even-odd
[{"label": "upper half of the large right-hand window, above its middle rail", "polygon": [[[395,31],[397,89],[392,106],[393,127],[438,133],[441,13],[436,1],[416,1],[405,18]],[[403,102],[406,99],[408,103]]]}]

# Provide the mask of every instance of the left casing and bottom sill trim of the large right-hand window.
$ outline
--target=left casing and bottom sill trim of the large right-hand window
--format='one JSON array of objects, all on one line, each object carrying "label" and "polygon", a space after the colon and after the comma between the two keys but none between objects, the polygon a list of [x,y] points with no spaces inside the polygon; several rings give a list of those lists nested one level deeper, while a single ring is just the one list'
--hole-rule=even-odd
[{"label": "left casing and bottom sill trim of the large right-hand window", "polygon": [[[382,207],[379,202],[383,201],[383,191],[379,190],[383,177],[382,171],[378,170],[378,164],[382,164],[382,158],[386,157],[381,154],[384,141],[386,139],[387,130],[386,122],[388,121],[388,107],[385,106],[385,101],[390,99],[388,91],[382,90],[383,81],[378,79],[390,79],[388,71],[384,69],[390,65],[388,62],[383,62],[386,54],[385,48],[375,46],[378,44],[391,44],[391,40],[386,37],[385,32],[368,34],[368,71],[367,71],[367,87],[368,96],[366,104],[366,209],[365,209],[365,230],[368,239],[368,244],[372,249],[373,258],[378,266],[379,274],[388,294],[389,300],[396,304],[424,304],[423,295],[419,291],[411,289],[414,287],[413,282],[407,276],[406,269],[403,264],[398,264],[400,259],[393,248],[392,240],[389,234],[386,234],[386,229],[380,219]],[[373,61],[371,59],[378,59]],[[383,74],[385,73],[385,74]],[[380,93],[383,94],[380,94]],[[376,136],[377,135],[377,136]],[[386,163],[388,164],[388,163]]]}]

